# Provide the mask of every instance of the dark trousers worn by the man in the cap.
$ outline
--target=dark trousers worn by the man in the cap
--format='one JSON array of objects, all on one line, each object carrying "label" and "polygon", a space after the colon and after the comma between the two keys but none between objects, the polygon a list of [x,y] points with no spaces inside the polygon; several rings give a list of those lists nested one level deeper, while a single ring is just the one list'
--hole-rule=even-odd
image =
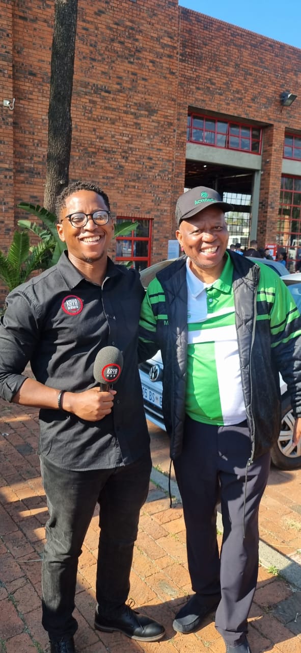
[{"label": "dark trousers worn by the man in the cap", "polygon": [[[201,424],[186,417],[184,447],[174,461],[186,524],[188,567],[194,592],[222,594],[216,628],[229,645],[248,632],[247,618],[258,574],[258,511],[270,470],[270,453],[248,468],[251,452],[246,422]],[[246,490],[246,500],[244,496]],[[216,537],[221,502],[222,550]]]}]

